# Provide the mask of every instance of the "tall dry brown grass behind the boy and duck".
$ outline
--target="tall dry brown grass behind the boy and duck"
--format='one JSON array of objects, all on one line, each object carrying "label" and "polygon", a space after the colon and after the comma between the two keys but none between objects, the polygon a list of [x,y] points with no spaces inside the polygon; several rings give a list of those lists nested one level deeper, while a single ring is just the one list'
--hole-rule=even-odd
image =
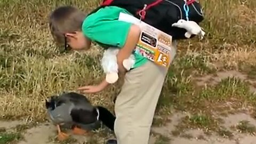
[{"label": "tall dry brown grass behind the boy and duck", "polygon": [[[202,27],[207,36],[203,42],[197,42],[196,38],[180,42],[179,55],[172,66],[177,77],[166,79],[173,84],[164,86],[159,114],[170,105],[171,100],[166,101],[170,92],[191,91],[188,86],[191,76],[184,74],[188,69],[183,67],[207,71],[212,65],[221,69],[238,69],[241,62],[255,65],[256,1],[201,3],[206,15]],[[0,118],[42,121],[46,97],[75,91],[78,86],[98,83],[103,78],[98,64],[100,47],[94,46],[90,53],[61,54],[52,42],[47,17],[63,4],[91,11],[98,1],[0,1]],[[118,90],[119,86],[114,85],[89,98],[95,104],[113,108],[111,97]]]}]

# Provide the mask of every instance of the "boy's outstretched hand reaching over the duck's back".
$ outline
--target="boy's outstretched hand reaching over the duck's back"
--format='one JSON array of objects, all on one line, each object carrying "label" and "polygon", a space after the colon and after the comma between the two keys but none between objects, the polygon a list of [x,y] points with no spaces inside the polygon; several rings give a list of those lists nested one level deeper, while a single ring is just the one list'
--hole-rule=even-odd
[{"label": "boy's outstretched hand reaching over the duck's back", "polygon": [[104,90],[109,83],[106,80],[102,81],[99,85],[87,85],[79,87],[77,90],[81,91],[82,93],[97,93]]}]

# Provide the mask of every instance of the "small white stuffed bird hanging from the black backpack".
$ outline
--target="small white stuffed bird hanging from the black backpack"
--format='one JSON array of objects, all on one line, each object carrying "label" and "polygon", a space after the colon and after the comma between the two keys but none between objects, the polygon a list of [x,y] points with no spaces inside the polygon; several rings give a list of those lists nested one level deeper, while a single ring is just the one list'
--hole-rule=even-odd
[{"label": "small white stuffed bird hanging from the black backpack", "polygon": [[195,21],[187,21],[180,19],[178,20],[178,22],[173,23],[172,27],[186,29],[187,32],[185,33],[185,36],[187,38],[190,38],[191,35],[200,35],[201,39],[203,39],[203,36],[205,35],[205,32]]}]

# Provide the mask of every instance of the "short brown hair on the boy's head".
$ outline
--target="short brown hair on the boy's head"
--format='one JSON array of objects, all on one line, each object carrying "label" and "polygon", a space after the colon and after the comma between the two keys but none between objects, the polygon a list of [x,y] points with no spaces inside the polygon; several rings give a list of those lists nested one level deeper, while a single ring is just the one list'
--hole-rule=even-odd
[{"label": "short brown hair on the boy's head", "polygon": [[65,43],[65,33],[82,29],[86,14],[73,6],[60,6],[50,14],[49,27],[58,44]]}]

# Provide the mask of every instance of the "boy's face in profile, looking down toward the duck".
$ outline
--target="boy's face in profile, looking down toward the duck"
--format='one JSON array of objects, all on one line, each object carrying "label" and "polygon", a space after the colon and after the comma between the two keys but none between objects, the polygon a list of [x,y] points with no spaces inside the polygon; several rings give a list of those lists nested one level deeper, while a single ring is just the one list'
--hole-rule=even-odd
[{"label": "boy's face in profile, looking down toward the duck", "polygon": [[91,46],[90,39],[87,39],[81,31],[67,33],[65,36],[67,38],[67,44],[73,50],[88,50]]}]

